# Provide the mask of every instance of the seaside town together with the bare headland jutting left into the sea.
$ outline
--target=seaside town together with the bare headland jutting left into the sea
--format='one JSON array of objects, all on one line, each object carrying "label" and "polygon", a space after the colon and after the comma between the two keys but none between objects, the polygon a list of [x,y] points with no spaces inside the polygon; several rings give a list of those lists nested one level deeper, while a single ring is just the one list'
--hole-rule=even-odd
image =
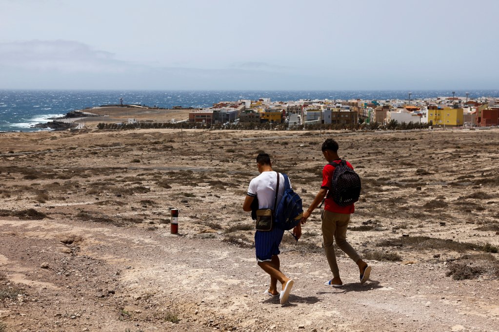
[{"label": "seaside town together with the bare headland jutting left into the sea", "polygon": [[475,128],[499,124],[499,98],[301,99],[224,101],[212,107],[140,104],[101,105],[68,112],[33,127],[64,129],[214,128],[214,129],[421,129]]}]

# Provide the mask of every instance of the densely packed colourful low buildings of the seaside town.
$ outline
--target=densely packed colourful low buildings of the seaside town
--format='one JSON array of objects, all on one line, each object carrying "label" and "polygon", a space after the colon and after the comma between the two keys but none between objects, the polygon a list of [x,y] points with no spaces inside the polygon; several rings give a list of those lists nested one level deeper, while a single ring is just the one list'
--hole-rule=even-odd
[{"label": "densely packed colourful low buildings of the seaside town", "polygon": [[282,123],[288,125],[325,124],[357,128],[362,124],[414,123],[443,127],[498,125],[499,99],[440,97],[411,100],[299,100],[272,102],[221,102],[213,107],[192,111],[189,121],[206,124],[233,122]]}]

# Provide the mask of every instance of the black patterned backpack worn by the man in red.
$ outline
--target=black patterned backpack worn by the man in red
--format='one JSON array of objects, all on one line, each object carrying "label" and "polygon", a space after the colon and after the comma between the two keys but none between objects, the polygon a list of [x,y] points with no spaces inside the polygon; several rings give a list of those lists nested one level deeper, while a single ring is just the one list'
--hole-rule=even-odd
[{"label": "black patterned backpack worn by the man in red", "polygon": [[331,161],[329,164],[334,166],[334,171],[327,196],[331,197],[340,207],[357,202],[361,188],[359,175],[347,166],[345,160],[341,160],[339,163]]}]

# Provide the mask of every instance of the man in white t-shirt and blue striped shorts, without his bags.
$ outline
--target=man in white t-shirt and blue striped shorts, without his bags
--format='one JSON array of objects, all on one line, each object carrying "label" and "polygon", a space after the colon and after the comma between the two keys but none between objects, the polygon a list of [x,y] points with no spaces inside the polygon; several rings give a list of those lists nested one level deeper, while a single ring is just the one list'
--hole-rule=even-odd
[{"label": "man in white t-shirt and blue striped shorts, without his bags", "polygon": [[[270,157],[266,153],[260,153],[256,157],[256,166],[260,175],[253,178],[248,188],[243,210],[251,211],[251,203],[254,198],[258,199],[258,209],[274,210],[275,189],[277,185],[277,175],[279,175],[279,189],[277,192],[277,202],[280,201],[284,193],[284,177],[282,174],[272,170]],[[258,266],[270,275],[270,287],[264,292],[269,296],[279,296],[280,304],[287,302],[289,292],[293,287],[293,280],[286,277],[280,271],[280,261],[278,254],[279,245],[282,240],[284,230],[273,226],[269,231],[256,230],[254,234],[254,245],[256,251],[256,260]],[[293,234],[296,238],[301,236],[301,225],[293,228]],[[282,289],[277,289],[277,281],[282,285]]]}]

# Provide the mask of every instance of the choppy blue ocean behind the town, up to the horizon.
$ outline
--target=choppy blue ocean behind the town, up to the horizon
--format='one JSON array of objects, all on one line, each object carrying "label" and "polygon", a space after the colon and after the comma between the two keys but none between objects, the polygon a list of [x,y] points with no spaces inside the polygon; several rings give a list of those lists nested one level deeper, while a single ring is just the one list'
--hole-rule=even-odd
[{"label": "choppy blue ocean behind the town, up to the horizon", "polygon": [[[39,131],[31,125],[47,122],[49,117],[62,116],[68,111],[81,110],[104,104],[141,104],[172,108],[211,107],[221,101],[239,99],[296,101],[299,99],[348,100],[408,99],[407,90],[384,91],[63,91],[63,90],[0,90],[0,131]],[[456,97],[467,91],[455,90]],[[469,90],[469,98],[499,98],[498,90]],[[452,96],[448,90],[412,91],[411,99]]]}]

